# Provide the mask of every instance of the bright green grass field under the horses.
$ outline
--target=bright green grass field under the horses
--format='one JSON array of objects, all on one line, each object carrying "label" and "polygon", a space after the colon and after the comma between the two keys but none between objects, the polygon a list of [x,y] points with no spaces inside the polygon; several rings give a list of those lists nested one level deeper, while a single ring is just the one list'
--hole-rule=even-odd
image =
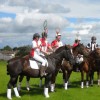
[{"label": "bright green grass field under the horses", "polygon": [[[9,81],[9,76],[6,75],[6,62],[0,61],[0,100],[7,100],[6,90],[7,83]],[[21,99],[15,97],[12,92],[13,100],[100,100],[100,87],[97,86],[96,75],[95,83],[93,87],[84,89],[80,88],[80,73],[72,73],[70,78],[70,86],[68,90],[63,88],[62,74],[59,73],[56,81],[56,91],[54,93],[49,93],[50,98],[45,98],[43,96],[43,87],[38,87],[39,79],[32,78],[30,80],[31,90],[28,92],[26,90],[25,79],[22,82],[22,91],[20,93]]]}]

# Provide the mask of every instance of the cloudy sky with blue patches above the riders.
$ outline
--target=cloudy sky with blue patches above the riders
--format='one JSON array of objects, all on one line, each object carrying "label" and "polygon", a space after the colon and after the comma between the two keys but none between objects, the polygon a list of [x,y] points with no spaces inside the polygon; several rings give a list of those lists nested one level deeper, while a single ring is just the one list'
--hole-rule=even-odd
[{"label": "cloudy sky with blue patches above the riders", "polygon": [[45,20],[49,42],[59,28],[63,44],[77,36],[87,44],[93,35],[100,43],[100,0],[0,0],[0,48],[31,45]]}]

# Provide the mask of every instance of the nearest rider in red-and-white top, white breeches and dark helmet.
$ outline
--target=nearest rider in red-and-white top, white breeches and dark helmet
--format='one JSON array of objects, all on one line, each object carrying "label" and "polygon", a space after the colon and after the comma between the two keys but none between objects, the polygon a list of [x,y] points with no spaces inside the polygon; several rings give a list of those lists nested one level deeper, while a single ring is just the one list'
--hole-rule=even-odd
[{"label": "nearest rider in red-and-white top, white breeches and dark helmet", "polygon": [[46,61],[40,56],[40,54],[41,54],[41,41],[39,40],[39,38],[40,38],[39,33],[35,33],[33,35],[32,50],[30,52],[30,56],[32,58],[34,58],[35,60],[42,63],[42,66],[40,67],[40,75],[42,77],[46,74],[45,73]]}]

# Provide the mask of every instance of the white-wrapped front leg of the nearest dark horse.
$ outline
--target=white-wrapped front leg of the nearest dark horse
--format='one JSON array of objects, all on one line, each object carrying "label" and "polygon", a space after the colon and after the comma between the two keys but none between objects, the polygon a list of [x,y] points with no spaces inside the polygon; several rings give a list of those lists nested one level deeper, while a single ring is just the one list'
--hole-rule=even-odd
[{"label": "white-wrapped front leg of the nearest dark horse", "polygon": [[51,74],[50,75],[47,75],[46,77],[45,77],[45,85],[44,85],[44,96],[46,97],[46,98],[49,98],[49,93],[48,93],[48,88],[49,88],[49,83],[50,83],[50,81],[51,81]]}]

